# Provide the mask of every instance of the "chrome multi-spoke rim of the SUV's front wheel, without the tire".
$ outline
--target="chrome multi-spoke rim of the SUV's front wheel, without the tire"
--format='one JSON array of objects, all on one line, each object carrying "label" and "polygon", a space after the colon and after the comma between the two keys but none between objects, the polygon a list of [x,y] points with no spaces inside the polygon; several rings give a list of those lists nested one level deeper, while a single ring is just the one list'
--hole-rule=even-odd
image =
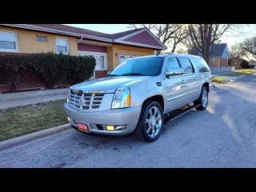
[{"label": "chrome multi-spoke rim of the SUV's front wheel, without the tire", "polygon": [[146,133],[150,138],[157,136],[162,128],[162,114],[157,106],[152,106],[146,114]]}]

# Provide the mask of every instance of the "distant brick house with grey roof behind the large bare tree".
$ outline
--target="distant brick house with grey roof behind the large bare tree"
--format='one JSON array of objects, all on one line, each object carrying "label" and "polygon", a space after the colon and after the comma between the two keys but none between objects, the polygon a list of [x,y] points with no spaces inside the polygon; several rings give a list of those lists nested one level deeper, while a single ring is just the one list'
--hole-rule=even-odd
[{"label": "distant brick house with grey roof behind the large bare tree", "polygon": [[[193,48],[189,50],[189,54],[195,54],[198,56],[202,56],[198,50]],[[218,43],[210,46],[210,67],[223,67],[229,65],[229,50],[227,48],[226,43]]]}]

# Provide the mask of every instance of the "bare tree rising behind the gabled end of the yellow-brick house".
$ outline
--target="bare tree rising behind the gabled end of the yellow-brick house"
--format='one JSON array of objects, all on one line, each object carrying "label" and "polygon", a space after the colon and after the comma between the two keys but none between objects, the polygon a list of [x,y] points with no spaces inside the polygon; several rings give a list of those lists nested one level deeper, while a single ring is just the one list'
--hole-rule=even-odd
[{"label": "bare tree rising behind the gabled end of the yellow-brick house", "polygon": [[171,52],[189,35],[182,24],[132,24],[130,27],[148,28],[164,45],[171,47]]}]

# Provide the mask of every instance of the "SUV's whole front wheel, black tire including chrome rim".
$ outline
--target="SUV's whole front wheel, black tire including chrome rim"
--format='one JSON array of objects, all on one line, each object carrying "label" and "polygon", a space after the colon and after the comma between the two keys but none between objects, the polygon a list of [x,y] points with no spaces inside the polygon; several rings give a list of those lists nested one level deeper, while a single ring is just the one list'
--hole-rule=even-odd
[{"label": "SUV's whole front wheel, black tire including chrome rim", "polygon": [[158,102],[148,101],[142,106],[142,112],[135,130],[138,138],[154,142],[162,133],[162,106]]}]

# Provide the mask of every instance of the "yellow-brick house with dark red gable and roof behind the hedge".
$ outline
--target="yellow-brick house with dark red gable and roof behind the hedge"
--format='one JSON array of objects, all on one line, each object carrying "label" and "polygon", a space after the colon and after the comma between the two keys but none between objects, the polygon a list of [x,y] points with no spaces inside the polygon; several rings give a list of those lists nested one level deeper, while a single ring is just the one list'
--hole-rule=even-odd
[{"label": "yellow-brick house with dark red gable and roof behind the hedge", "polygon": [[105,34],[60,24],[0,24],[0,55],[93,55],[95,78],[106,76],[127,58],[154,54],[156,50],[166,50],[166,46],[146,28]]}]

